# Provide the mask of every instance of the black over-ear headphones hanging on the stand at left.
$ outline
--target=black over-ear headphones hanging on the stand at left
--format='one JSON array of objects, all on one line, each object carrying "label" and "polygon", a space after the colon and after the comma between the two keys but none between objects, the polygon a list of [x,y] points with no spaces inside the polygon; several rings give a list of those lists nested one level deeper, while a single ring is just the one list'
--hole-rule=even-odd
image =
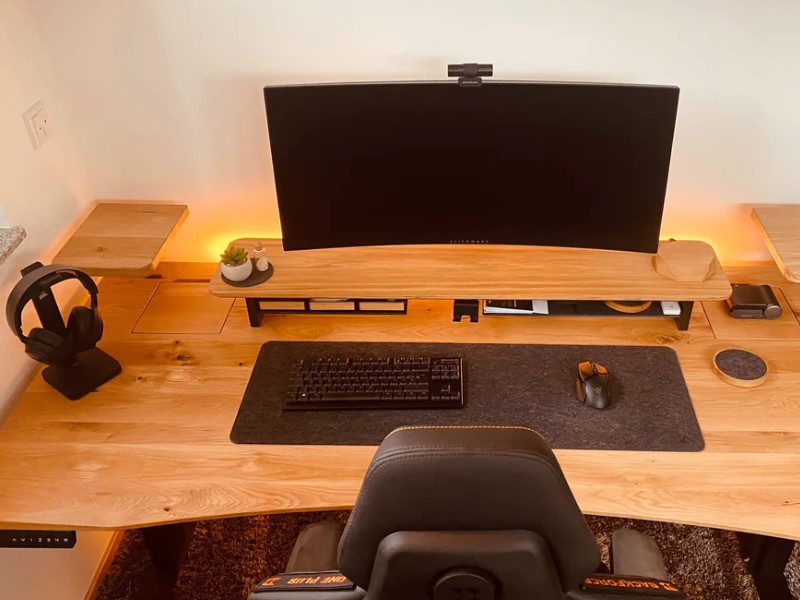
[{"label": "black over-ear headphones hanging on the stand at left", "polygon": [[[103,336],[103,319],[97,310],[97,285],[88,274],[67,265],[34,263],[22,270],[23,277],[6,302],[6,319],[14,334],[25,344],[25,353],[41,363],[70,363],[79,352],[90,350]],[[77,279],[89,292],[90,306],[76,306],[67,325],[50,288],[67,279]],[[22,310],[33,301],[42,327],[22,333]]]}]

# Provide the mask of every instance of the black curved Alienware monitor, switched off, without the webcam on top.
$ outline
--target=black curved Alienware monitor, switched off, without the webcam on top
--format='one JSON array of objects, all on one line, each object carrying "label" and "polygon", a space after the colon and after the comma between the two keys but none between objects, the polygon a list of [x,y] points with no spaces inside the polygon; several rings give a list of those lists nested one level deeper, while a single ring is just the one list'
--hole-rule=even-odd
[{"label": "black curved Alienware monitor, switched off, without the webcam on top", "polygon": [[657,250],[676,87],[408,82],[264,96],[286,250]]}]

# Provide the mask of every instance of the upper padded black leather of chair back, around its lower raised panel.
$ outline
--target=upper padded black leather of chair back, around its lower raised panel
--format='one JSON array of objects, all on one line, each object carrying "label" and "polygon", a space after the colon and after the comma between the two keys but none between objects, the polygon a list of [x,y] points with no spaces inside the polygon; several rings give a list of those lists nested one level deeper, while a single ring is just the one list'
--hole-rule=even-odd
[{"label": "upper padded black leather of chair back, around its lower raised panel", "polygon": [[391,545],[398,532],[508,532],[523,547],[549,554],[543,560],[554,565],[564,592],[577,589],[600,564],[555,456],[525,427],[416,427],[390,434],[339,544],[340,571],[370,589],[379,546],[387,538]]}]

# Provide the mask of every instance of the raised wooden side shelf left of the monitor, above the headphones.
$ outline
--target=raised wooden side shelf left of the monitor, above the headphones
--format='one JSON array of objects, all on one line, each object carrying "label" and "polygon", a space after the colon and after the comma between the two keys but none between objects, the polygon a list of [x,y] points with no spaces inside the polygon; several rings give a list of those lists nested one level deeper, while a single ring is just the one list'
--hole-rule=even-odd
[{"label": "raised wooden side shelf left of the monitor, above the headphones", "polygon": [[185,204],[98,202],[53,263],[95,276],[147,277],[188,215]]}]

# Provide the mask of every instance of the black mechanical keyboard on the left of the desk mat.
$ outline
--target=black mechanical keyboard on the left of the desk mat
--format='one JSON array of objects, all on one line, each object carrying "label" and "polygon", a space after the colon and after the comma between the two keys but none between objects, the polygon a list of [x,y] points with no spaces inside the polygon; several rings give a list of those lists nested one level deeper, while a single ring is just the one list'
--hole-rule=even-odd
[{"label": "black mechanical keyboard on the left of the desk mat", "polygon": [[461,408],[461,358],[301,358],[283,410]]}]

